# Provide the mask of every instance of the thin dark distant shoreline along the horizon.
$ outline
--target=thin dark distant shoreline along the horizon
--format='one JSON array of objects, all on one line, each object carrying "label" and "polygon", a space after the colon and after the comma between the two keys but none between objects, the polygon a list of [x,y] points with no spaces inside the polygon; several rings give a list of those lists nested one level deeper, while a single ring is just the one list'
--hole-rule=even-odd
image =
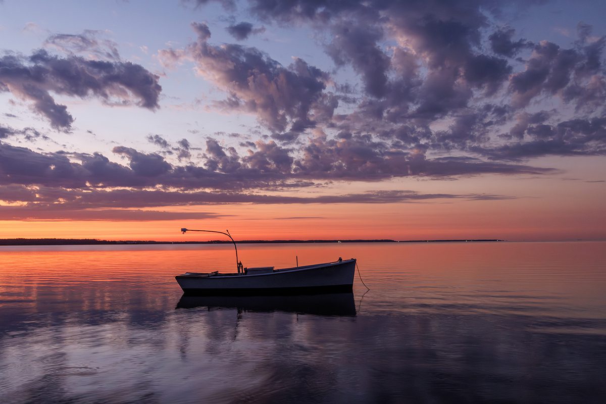
[{"label": "thin dark distant shoreline along the horizon", "polygon": [[[499,239],[467,240],[242,240],[238,244],[278,243],[460,243],[498,242]],[[231,244],[231,241],[152,241],[152,240],[98,240],[98,239],[0,239],[0,245],[154,245],[154,244]]]}]

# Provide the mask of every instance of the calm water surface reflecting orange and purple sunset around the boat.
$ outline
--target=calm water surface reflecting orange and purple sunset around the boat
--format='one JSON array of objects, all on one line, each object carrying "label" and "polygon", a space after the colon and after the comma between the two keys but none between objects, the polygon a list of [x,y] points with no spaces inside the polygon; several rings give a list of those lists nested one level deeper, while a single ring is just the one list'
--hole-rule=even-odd
[{"label": "calm water surface reflecting orange and purple sunset around the boat", "polygon": [[353,294],[182,297],[229,245],[0,247],[2,403],[606,402],[606,243],[242,245]]}]

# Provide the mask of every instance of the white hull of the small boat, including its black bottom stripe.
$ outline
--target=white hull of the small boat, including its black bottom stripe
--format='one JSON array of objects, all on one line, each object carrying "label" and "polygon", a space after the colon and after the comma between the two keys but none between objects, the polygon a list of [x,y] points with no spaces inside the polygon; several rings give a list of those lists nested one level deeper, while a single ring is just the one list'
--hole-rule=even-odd
[{"label": "white hull of the small boat, including its black bottom stripe", "polygon": [[[186,294],[282,294],[351,291],[356,260],[270,270],[255,274],[196,274],[175,277]],[[253,271],[251,271],[253,272]]]}]

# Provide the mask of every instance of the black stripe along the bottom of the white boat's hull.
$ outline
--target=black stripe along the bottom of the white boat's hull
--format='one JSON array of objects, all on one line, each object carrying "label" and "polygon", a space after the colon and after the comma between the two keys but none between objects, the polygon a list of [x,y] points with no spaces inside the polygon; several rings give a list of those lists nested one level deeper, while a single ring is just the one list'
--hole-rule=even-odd
[{"label": "black stripe along the bottom of the white boat's hull", "polygon": [[285,296],[351,291],[353,291],[353,285],[305,286],[301,288],[184,289],[183,293],[188,296]]}]

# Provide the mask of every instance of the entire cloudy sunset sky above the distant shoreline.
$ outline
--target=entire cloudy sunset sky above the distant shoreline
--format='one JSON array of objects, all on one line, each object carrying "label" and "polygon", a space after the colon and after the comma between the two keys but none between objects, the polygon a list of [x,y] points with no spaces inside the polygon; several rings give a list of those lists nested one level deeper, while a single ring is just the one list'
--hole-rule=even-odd
[{"label": "entire cloudy sunset sky above the distant shoreline", "polygon": [[0,238],[606,239],[604,15],[0,0]]}]

